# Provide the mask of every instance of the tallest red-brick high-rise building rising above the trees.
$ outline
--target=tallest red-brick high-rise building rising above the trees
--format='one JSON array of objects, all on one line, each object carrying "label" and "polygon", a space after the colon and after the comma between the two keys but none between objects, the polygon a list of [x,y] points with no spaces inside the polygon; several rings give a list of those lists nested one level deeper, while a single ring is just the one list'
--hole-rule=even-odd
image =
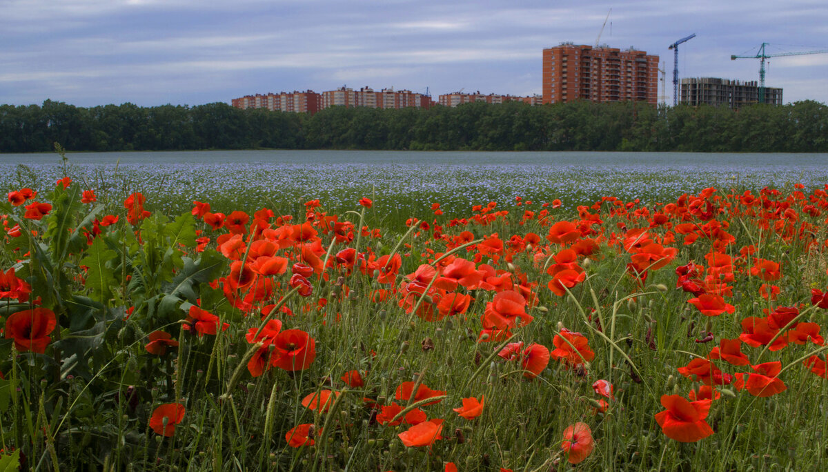
[{"label": "tallest red-brick high-rise building rising above the trees", "polygon": [[543,50],[543,103],[574,100],[656,104],[658,56],[632,48],[575,46]]}]

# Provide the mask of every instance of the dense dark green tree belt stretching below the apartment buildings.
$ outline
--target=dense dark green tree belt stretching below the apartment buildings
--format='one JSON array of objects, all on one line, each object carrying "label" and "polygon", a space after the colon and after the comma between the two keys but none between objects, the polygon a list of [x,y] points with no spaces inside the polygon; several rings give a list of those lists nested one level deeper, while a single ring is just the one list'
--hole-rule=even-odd
[{"label": "dense dark green tree belt stretching below the apartment buildings", "polygon": [[190,149],[828,152],[828,106],[673,108],[622,102],[305,113],[134,104],[0,105],[0,152]]}]

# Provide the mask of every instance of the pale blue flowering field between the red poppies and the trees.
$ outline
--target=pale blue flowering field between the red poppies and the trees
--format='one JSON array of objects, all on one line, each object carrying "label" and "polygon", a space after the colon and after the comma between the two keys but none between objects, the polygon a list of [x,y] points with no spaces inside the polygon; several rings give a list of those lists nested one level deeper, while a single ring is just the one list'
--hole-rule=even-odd
[{"label": "pale blue flowering field between the red poppies and the trees", "polygon": [[[296,207],[319,198],[333,207],[362,196],[388,205],[458,210],[522,196],[588,204],[603,195],[645,201],[706,187],[759,190],[828,183],[828,154],[682,152],[79,152],[70,176],[102,192],[143,191],[150,200],[252,200]],[[46,189],[62,176],[60,157],[0,154],[0,187]],[[435,200],[440,199],[440,200]]]}]

